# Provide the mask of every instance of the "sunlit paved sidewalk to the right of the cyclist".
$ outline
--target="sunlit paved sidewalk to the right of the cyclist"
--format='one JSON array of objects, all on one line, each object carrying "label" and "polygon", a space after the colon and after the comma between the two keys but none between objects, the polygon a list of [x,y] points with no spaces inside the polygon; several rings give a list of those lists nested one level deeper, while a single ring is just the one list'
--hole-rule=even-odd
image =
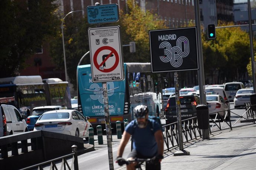
[{"label": "sunlit paved sidewalk to the right of the cyclist", "polygon": [[179,147],[164,153],[162,170],[255,170],[256,124],[221,130],[208,140],[185,143],[188,156],[173,156]]}]

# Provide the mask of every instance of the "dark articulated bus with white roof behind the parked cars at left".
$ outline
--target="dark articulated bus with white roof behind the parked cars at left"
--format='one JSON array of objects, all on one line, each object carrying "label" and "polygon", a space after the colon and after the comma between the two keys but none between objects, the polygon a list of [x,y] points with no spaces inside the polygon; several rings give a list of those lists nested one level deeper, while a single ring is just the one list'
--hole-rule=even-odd
[{"label": "dark articulated bus with white roof behind the parked cars at left", "polygon": [[68,82],[45,79],[41,76],[16,76],[0,78],[0,98],[14,97],[9,105],[15,106],[22,115],[37,106],[60,105],[71,108]]}]

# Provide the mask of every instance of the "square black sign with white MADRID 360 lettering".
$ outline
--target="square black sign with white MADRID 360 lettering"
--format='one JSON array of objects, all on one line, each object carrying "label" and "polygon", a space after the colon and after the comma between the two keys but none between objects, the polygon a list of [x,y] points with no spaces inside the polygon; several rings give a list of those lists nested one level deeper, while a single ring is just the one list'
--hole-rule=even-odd
[{"label": "square black sign with white MADRID 360 lettering", "polygon": [[152,72],[198,69],[196,27],[150,30]]}]

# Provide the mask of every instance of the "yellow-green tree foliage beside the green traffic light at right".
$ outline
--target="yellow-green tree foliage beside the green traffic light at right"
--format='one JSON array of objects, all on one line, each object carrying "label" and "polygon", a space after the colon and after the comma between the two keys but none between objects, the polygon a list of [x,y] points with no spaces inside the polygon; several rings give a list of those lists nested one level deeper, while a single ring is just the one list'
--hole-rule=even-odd
[{"label": "yellow-green tree foliage beside the green traffic light at right", "polygon": [[[232,26],[233,23],[218,23],[218,27]],[[239,81],[245,75],[250,58],[249,34],[240,27],[216,29],[216,39],[202,39],[204,71],[206,75],[219,74],[219,79]],[[222,81],[222,82],[223,82]],[[218,82],[220,83],[220,82]]]}]

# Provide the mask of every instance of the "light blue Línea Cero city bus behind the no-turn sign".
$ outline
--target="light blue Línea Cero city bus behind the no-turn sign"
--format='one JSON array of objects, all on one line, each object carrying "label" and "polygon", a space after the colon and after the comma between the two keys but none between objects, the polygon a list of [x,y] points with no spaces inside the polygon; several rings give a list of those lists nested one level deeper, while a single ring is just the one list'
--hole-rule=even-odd
[{"label": "light blue L\u00ednea Cero city bus behind the no-turn sign", "polygon": [[[102,83],[93,83],[91,65],[79,65],[78,111],[89,116],[93,127],[105,127]],[[135,106],[147,105],[149,115],[164,118],[162,76],[151,72],[151,63],[124,63],[124,80],[109,81],[108,105],[111,124],[116,121],[131,121]],[[115,126],[112,126],[115,127]]]}]

